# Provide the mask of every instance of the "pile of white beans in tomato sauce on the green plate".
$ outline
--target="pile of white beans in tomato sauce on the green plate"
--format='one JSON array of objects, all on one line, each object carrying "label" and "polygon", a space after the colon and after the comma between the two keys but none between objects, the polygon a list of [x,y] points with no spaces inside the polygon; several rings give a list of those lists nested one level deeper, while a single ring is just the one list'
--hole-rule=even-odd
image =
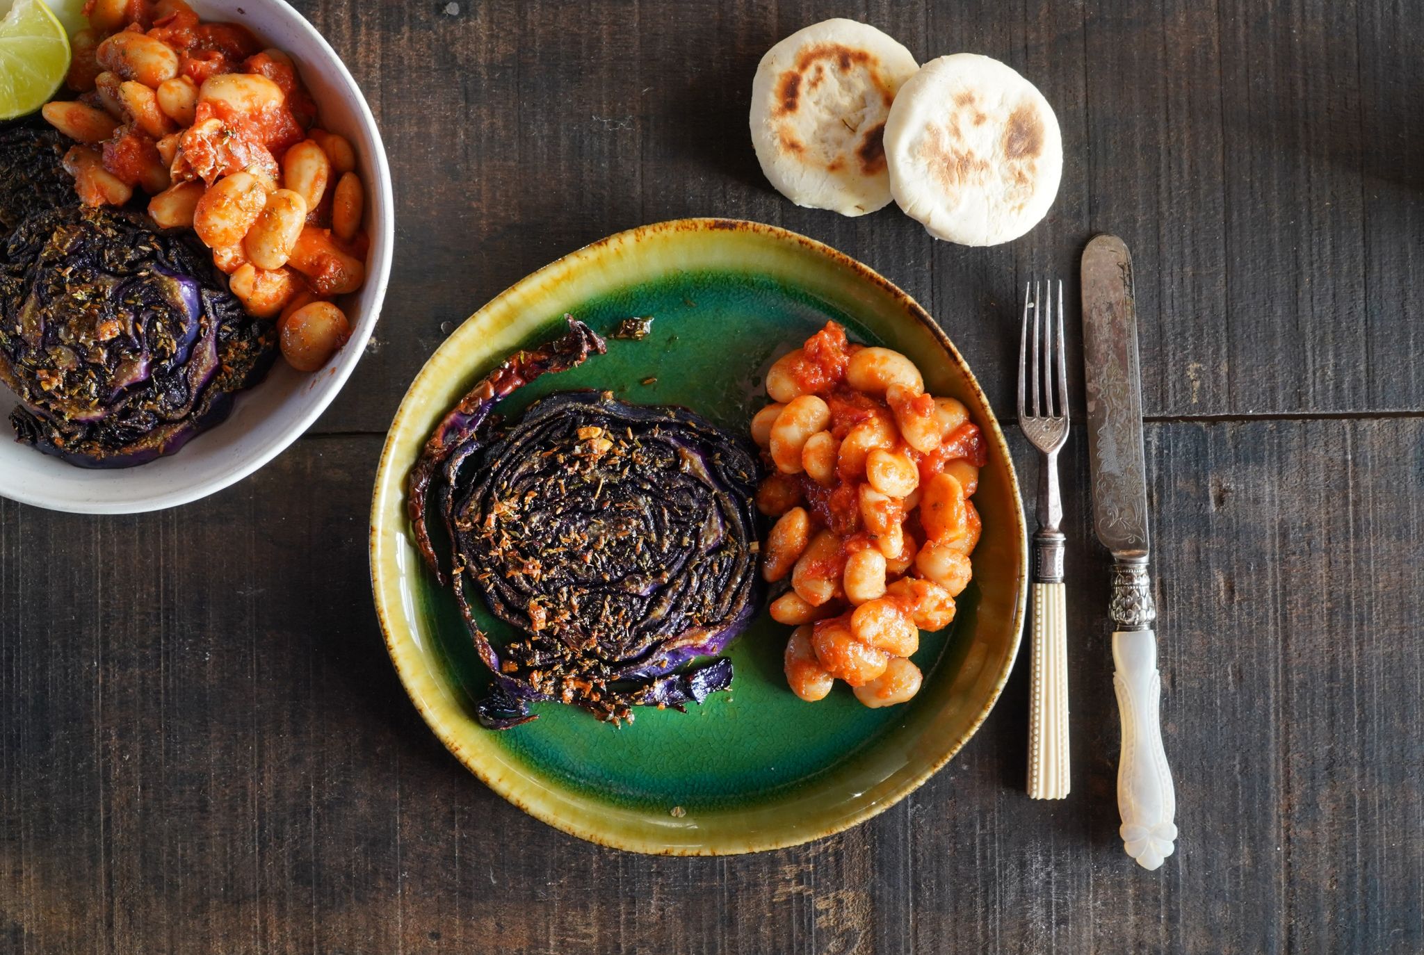
[{"label": "pile of white beans in tomato sauce on the green plate", "polygon": [[[923,683],[909,660],[920,630],[953,622],[973,575],[978,427],[961,401],[927,394],[906,354],[850,344],[834,323],[773,363],[766,389],[773,404],[752,434],[772,474],[758,504],[786,515],[768,537],[768,579],[786,586],[789,531],[805,542],[770,608],[802,628],[787,642],[787,683],[807,700],[839,679],[866,706],[903,703]],[[793,662],[805,669],[793,675]]]}]

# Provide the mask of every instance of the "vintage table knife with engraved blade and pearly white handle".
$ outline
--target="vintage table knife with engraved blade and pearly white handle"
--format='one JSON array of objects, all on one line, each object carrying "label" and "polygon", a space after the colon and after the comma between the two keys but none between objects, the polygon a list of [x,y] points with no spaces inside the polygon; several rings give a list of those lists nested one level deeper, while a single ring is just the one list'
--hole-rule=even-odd
[{"label": "vintage table knife with engraved blade and pearly white handle", "polygon": [[1175,848],[1176,793],[1159,727],[1162,676],[1148,579],[1148,482],[1132,256],[1112,235],[1096,236],[1082,253],[1082,353],[1094,527],[1114,559],[1108,612],[1116,625],[1112,682],[1122,720],[1119,833],[1128,855],[1153,870]]}]

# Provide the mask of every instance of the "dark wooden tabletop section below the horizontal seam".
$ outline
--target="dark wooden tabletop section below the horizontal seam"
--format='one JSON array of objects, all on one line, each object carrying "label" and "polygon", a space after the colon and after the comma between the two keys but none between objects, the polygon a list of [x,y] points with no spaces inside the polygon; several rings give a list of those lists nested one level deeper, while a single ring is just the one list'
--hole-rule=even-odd
[{"label": "dark wooden tabletop section below the horizontal seam", "polygon": [[436,743],[365,598],[375,437],[159,515],[0,504],[0,951],[1418,951],[1420,448],[1418,418],[1149,426],[1158,874],[1116,835],[1077,433],[1072,796],[1022,793],[1020,668],[911,798],[725,860],[578,843]]}]

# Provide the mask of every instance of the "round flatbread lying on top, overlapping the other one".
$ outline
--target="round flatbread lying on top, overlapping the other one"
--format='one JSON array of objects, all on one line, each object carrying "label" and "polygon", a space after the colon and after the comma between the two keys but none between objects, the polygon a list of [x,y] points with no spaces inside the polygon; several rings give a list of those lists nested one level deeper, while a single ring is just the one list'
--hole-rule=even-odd
[{"label": "round flatbread lying on top, overlapping the other one", "polygon": [[890,192],[937,239],[998,245],[1028,232],[1062,176],[1058,118],[1011,67],[973,53],[924,64],[884,132]]}]

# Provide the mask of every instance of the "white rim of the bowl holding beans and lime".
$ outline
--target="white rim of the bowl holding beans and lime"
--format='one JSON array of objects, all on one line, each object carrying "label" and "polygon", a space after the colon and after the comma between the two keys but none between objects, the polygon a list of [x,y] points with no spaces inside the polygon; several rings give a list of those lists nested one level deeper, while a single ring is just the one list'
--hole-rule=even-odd
[{"label": "white rim of the bowl holding beans and lime", "polygon": [[[332,44],[326,41],[326,37],[323,37],[322,33],[313,27],[305,16],[302,16],[300,10],[293,7],[290,3],[286,3],[286,0],[252,0],[252,3],[278,9],[283,14],[283,19],[289,21],[290,28],[302,33],[330,58],[336,67],[332,78],[336,80],[336,85],[345,85],[347,100],[350,100],[355,105],[356,118],[363,130],[370,135],[372,145],[375,145],[375,149],[372,151],[373,155],[370,157],[372,165],[376,171],[376,188],[372,189],[372,199],[375,201],[367,206],[372,216],[370,245],[372,249],[377,252],[377,255],[373,256],[373,260],[367,262],[366,270],[366,285],[373,289],[372,307],[369,309],[370,322],[357,323],[357,329],[353,330],[352,337],[345,346],[342,346],[333,364],[312,373],[313,377],[320,374],[325,379],[318,386],[323,389],[323,397],[315,401],[303,414],[296,417],[290,424],[288,424],[288,427],[269,440],[266,445],[261,447],[256,454],[242,458],[232,465],[219,470],[211,477],[185,487],[155,491],[127,498],[120,502],[105,501],[100,497],[73,500],[71,497],[60,498],[48,495],[44,492],[47,485],[43,481],[4,488],[0,495],[7,500],[64,514],[145,514],[148,511],[162,511],[182,504],[191,504],[211,494],[216,494],[218,491],[222,491],[258,471],[282,451],[292,447],[298,438],[306,434],[308,428],[316,423],[316,418],[326,413],[326,408],[329,408],[332,401],[336,400],[336,396],[346,387],[347,379],[350,379],[356,366],[360,364],[360,360],[365,356],[366,344],[376,332],[376,325],[380,322],[380,310],[386,302],[386,290],[390,285],[390,268],[394,258],[396,243],[394,184],[390,176],[390,162],[386,158],[386,145],[380,138],[380,127],[376,122],[376,117],[370,111],[370,104],[366,102],[366,94],[362,93],[360,84],[356,83],[350,70],[346,68],[346,61],[342,60],[336,50],[332,48]],[[234,7],[232,13],[235,14],[234,20],[236,21],[241,21],[242,17],[246,16],[246,11],[238,7]],[[316,64],[302,64],[305,68],[312,68],[313,65]],[[322,73],[328,71],[322,70]],[[252,387],[262,387],[262,381],[258,381]],[[238,393],[235,400],[241,401],[242,397],[242,393]],[[222,427],[222,423],[216,427]],[[142,465],[140,465],[140,468],[141,467]]]}]

